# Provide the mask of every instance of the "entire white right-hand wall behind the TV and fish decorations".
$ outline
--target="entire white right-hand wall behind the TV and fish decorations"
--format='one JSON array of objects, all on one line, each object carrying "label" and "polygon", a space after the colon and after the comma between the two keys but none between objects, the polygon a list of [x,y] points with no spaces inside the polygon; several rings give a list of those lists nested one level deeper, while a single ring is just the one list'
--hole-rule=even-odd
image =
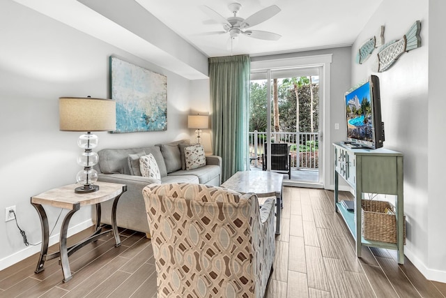
[{"label": "entire white right-hand wall behind the TV and fish decorations", "polygon": [[[380,25],[385,25],[387,43],[402,38],[415,20],[421,21],[422,47],[403,53],[392,68],[377,75],[385,122],[384,147],[404,154],[405,254],[426,278],[446,282],[446,241],[441,237],[442,210],[446,207],[441,187],[445,163],[439,158],[443,151],[438,146],[444,143],[438,136],[444,134],[445,127],[443,81],[438,81],[445,66],[441,62],[445,21],[440,8],[444,13],[442,1],[383,1],[357,37],[351,59]],[[432,26],[429,23],[433,15],[436,24]],[[430,54],[437,59],[429,58]],[[353,64],[351,84],[371,75],[374,63],[376,59],[372,56],[362,65]]]}]

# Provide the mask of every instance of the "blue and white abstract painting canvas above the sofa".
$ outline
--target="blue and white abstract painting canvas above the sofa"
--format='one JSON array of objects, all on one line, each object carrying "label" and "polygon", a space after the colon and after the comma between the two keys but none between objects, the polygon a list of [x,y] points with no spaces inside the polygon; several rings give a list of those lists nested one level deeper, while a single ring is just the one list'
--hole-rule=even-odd
[{"label": "blue and white abstract painting canvas above the sofa", "polygon": [[110,57],[112,99],[116,100],[116,131],[167,130],[167,77]]}]

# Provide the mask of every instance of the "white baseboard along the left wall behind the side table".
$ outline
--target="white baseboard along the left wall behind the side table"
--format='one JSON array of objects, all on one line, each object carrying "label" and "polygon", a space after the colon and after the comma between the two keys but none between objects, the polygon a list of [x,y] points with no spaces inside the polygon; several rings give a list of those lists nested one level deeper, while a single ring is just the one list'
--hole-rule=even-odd
[{"label": "white baseboard along the left wall behind the side table", "polygon": [[[78,232],[81,232],[87,228],[90,228],[93,225],[93,222],[91,219],[84,221],[83,223],[79,223],[78,225],[75,225],[72,228],[68,228],[68,237],[70,237],[73,234],[76,234]],[[55,234],[52,237],[49,237],[49,246],[52,246],[53,244],[59,243],[59,234]],[[35,253],[40,253],[41,246],[27,246],[26,248],[22,249],[22,251],[17,251],[16,253],[13,253],[12,255],[8,255],[6,258],[3,258],[0,260],[0,270],[3,270],[5,268],[8,268],[21,260],[24,260],[31,255]],[[36,265],[37,265],[37,258],[36,258]]]}]

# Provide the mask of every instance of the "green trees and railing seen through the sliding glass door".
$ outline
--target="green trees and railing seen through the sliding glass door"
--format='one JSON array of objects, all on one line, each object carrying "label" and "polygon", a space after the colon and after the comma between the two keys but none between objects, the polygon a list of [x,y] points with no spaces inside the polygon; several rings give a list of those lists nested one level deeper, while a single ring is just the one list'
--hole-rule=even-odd
[{"label": "green trees and railing seen through the sliding glass door", "polygon": [[[300,133],[297,140],[282,139],[279,134],[271,142],[289,142],[291,167],[318,168],[319,84],[318,77],[289,77],[271,82],[271,96],[267,94],[266,80],[250,82],[249,131],[257,131],[249,141],[250,156],[263,154],[267,129],[267,98],[271,98],[271,131]],[[296,124],[299,124],[296,127]],[[308,139],[309,135],[309,139]],[[253,140],[254,137],[257,140]]]}]

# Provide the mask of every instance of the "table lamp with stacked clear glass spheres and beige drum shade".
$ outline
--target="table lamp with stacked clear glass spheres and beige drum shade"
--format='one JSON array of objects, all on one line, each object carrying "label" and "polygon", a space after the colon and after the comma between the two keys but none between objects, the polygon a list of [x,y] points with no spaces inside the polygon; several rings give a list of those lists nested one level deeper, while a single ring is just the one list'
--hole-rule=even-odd
[{"label": "table lamp with stacked clear glass spheres and beige drum shade", "polygon": [[84,153],[77,158],[77,163],[84,170],[77,173],[76,181],[82,186],[75,188],[75,193],[92,193],[98,191],[98,172],[93,165],[98,163],[99,156],[93,149],[98,145],[98,136],[91,131],[116,130],[116,102],[102,98],[59,98],[59,129],[61,131],[86,131],[77,140],[77,145]]}]

